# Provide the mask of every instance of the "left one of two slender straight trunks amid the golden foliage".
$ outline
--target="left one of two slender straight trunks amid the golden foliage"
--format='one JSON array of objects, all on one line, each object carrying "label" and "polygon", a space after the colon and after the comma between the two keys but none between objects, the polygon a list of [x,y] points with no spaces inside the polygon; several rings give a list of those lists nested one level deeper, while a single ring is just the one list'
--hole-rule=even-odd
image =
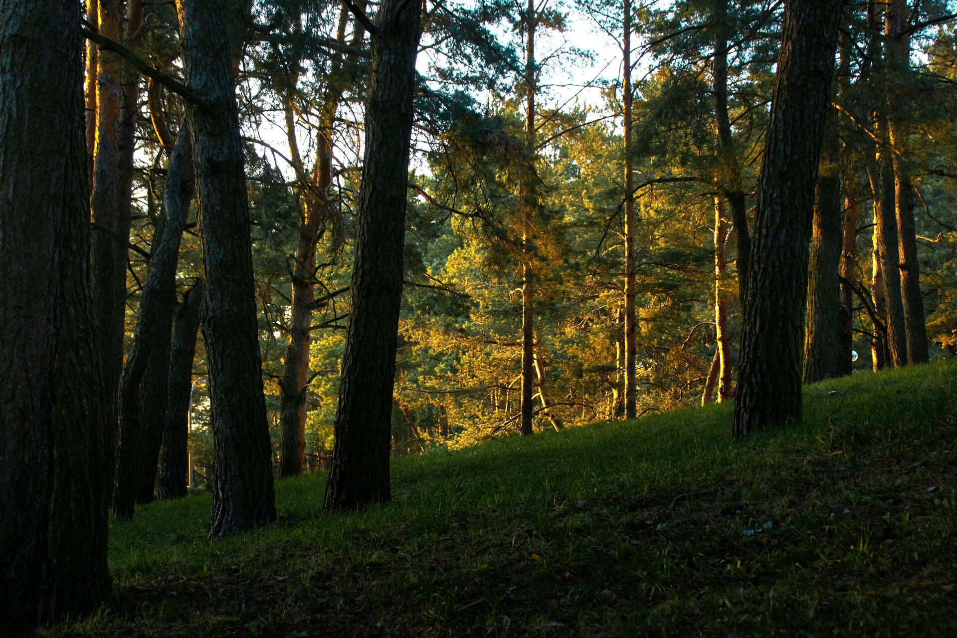
[{"label": "left one of two slender straight trunks amid the golden foliage", "polygon": [[534,0],[528,0],[525,19],[525,162],[528,165],[523,167],[521,193],[519,194],[519,215],[522,223],[522,423],[519,431],[527,436],[532,433],[532,414],[534,411],[532,397],[535,393],[535,378],[533,376],[535,368],[535,285],[533,279],[535,275],[532,270],[532,259],[534,259],[535,251],[531,238],[531,217],[534,215],[537,206],[533,168],[531,166],[536,155],[535,27],[537,18]]}]

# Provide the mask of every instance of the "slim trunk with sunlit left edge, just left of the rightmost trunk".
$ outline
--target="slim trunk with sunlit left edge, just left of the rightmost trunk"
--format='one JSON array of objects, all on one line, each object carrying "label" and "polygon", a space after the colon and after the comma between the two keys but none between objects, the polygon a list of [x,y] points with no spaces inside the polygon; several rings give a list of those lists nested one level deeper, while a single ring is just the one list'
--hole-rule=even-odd
[{"label": "slim trunk with sunlit left edge, just left of the rightmost trunk", "polygon": [[[881,123],[880,126],[886,126]],[[885,131],[886,132],[886,131]],[[879,190],[874,193],[875,253],[880,262],[883,279],[886,334],[884,348],[889,354],[887,364],[900,368],[907,363],[907,330],[904,325],[901,299],[901,270],[898,261],[898,229],[895,214],[894,162],[889,140],[878,148]]]}]

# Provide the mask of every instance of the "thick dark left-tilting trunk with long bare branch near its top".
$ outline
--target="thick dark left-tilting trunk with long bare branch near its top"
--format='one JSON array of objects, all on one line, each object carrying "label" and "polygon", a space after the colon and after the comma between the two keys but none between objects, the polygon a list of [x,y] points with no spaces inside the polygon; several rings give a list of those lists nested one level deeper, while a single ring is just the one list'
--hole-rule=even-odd
[{"label": "thick dark left-tilting trunk with long bare branch near its top", "polygon": [[276,519],[262,394],[249,204],[223,0],[177,3],[206,285],[213,481],[210,535]]}]

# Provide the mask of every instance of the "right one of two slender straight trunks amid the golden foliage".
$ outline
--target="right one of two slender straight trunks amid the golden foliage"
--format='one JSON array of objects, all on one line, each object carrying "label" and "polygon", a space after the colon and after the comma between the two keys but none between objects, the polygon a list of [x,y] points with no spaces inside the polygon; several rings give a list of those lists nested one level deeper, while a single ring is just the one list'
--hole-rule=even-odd
[{"label": "right one of two slender straight trunks amid the golden foliage", "polygon": [[[530,5],[529,5],[530,6]],[[632,167],[632,0],[622,11],[622,100],[625,105],[625,419],[637,414],[637,312],[634,308],[634,169]]]}]

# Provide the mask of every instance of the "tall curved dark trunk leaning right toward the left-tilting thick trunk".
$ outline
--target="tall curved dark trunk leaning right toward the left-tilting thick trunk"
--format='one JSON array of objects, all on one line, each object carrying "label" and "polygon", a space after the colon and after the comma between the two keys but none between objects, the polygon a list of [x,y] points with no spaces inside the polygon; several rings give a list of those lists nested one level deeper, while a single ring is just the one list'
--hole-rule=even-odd
[{"label": "tall curved dark trunk leaning right toward the left-tilting thick trunk", "polygon": [[123,368],[113,491],[113,512],[123,518],[133,515],[134,502],[153,499],[167,415],[176,264],[194,192],[191,150],[189,127],[184,125],[169,159],[164,214],[154,234],[133,349]]}]

